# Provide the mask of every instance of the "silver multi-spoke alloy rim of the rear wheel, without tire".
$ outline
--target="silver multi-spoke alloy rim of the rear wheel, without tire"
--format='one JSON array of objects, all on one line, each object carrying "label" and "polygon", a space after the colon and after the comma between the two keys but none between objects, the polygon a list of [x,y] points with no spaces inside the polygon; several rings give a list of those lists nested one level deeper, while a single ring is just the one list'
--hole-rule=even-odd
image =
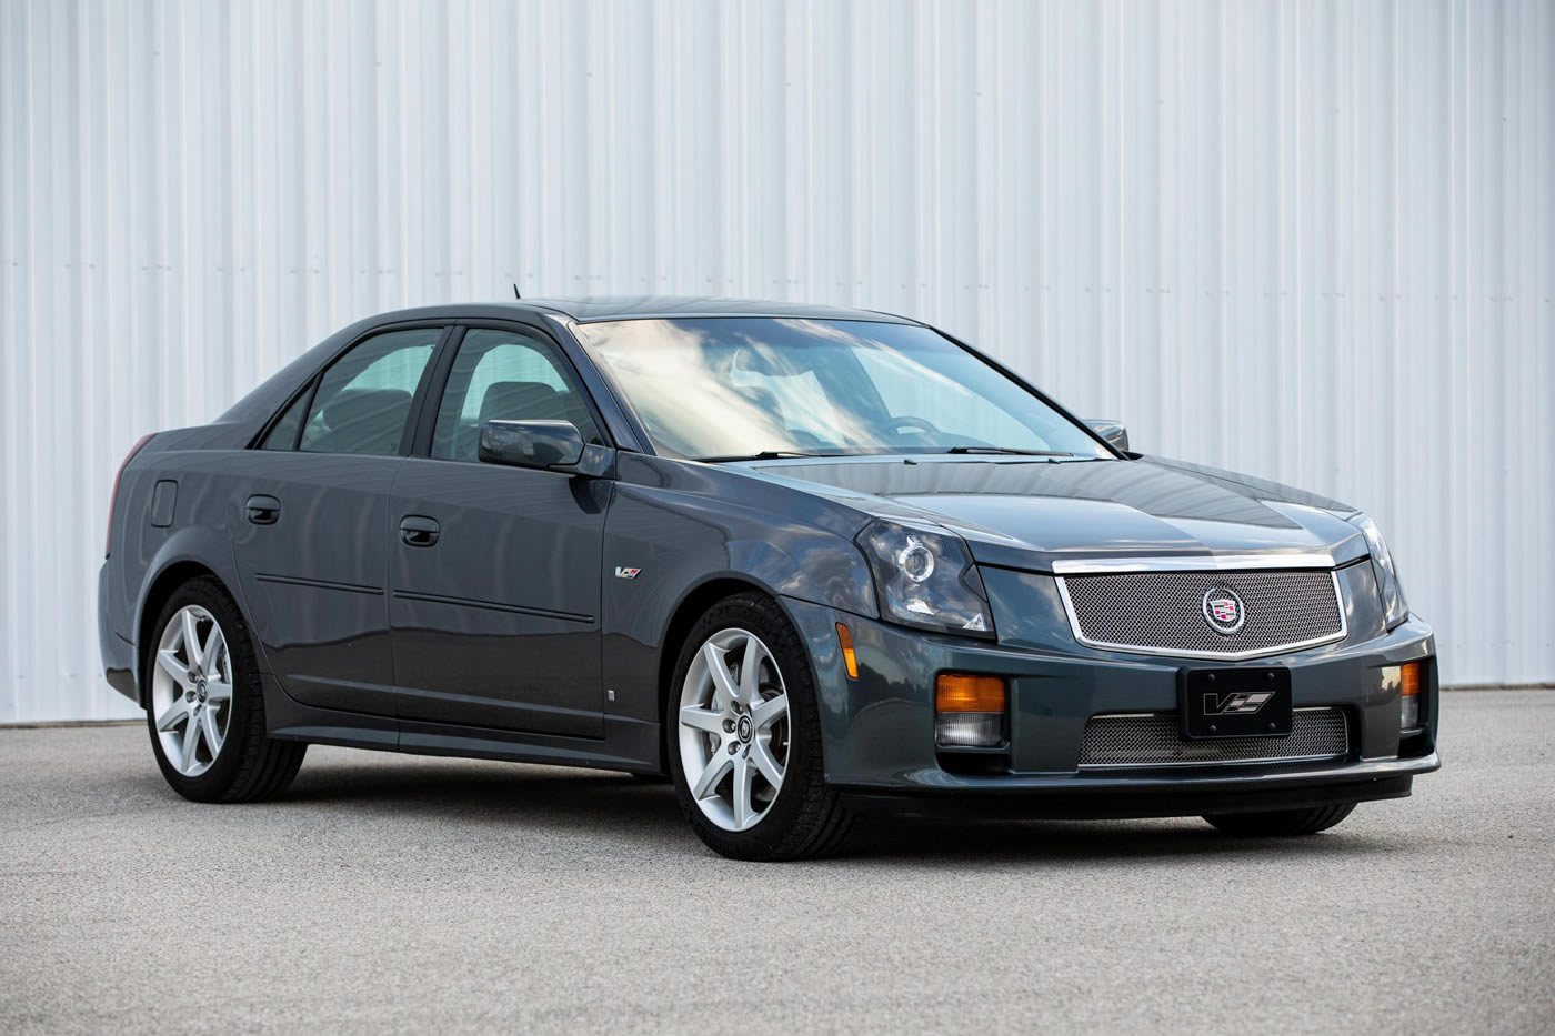
[{"label": "silver multi-spoke alloy rim of the rear wheel, without tire", "polygon": [[232,723],[232,655],[216,618],[199,605],[179,608],[162,630],[151,675],[157,740],[174,770],[210,770]]}]

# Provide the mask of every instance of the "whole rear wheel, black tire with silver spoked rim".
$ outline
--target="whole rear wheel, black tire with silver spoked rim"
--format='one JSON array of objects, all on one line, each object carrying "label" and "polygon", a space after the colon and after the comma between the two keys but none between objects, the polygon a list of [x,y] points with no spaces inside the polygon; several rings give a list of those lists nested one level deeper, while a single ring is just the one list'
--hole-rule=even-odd
[{"label": "whole rear wheel, black tire with silver spoked rim", "polygon": [[308,745],[269,737],[249,624],[221,580],[179,586],[152,630],[142,674],[146,730],[173,790],[196,803],[252,803],[286,790]]}]

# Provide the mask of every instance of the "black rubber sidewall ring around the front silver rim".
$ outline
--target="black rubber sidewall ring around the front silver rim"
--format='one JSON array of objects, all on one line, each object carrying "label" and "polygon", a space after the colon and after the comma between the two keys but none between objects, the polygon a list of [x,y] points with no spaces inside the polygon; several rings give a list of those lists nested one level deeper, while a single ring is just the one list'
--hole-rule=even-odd
[{"label": "black rubber sidewall ring around the front silver rim", "polygon": [[[767,815],[746,831],[725,831],[701,812],[690,795],[680,753],[680,700],[686,674],[708,638],[731,628],[748,630],[767,644],[782,670],[784,691],[788,695],[788,764],[782,789],[768,806]],[[782,608],[759,594],[740,594],[715,604],[697,621],[681,644],[675,677],[667,691],[664,728],[669,772],[675,781],[681,812],[698,837],[723,856],[736,859],[767,860],[788,856],[787,848],[793,842],[795,824],[804,812],[805,792],[823,781],[824,767],[810,655]]]}]

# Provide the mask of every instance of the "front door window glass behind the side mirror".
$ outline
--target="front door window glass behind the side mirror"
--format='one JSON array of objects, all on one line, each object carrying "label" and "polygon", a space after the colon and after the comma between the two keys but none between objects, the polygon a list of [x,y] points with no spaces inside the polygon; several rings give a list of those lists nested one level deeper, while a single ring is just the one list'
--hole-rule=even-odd
[{"label": "front door window glass behind the side mirror", "polygon": [[437,408],[432,456],[477,460],[480,425],[572,422],[583,442],[602,442],[582,392],[549,342],[519,331],[465,333]]}]

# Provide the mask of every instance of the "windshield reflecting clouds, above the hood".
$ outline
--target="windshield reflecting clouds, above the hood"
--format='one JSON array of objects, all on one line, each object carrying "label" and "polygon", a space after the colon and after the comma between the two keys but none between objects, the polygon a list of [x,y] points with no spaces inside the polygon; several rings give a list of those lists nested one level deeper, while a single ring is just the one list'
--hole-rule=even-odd
[{"label": "windshield reflecting clouds, above the hood", "polygon": [[577,331],[661,454],[1112,456],[1040,398],[924,327],[701,317],[610,320]]}]

